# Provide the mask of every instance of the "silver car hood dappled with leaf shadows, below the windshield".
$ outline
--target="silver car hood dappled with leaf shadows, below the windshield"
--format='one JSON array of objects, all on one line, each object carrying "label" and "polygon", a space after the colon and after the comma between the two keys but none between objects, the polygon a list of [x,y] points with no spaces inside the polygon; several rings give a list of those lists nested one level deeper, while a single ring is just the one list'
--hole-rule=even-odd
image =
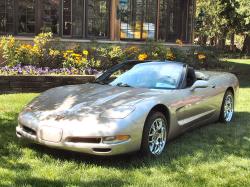
[{"label": "silver car hood dappled with leaf shadows, below the windshield", "polygon": [[159,94],[150,89],[100,84],[63,86],[42,93],[27,105],[24,112],[33,113],[40,119],[58,115],[100,114],[111,108],[134,106]]}]

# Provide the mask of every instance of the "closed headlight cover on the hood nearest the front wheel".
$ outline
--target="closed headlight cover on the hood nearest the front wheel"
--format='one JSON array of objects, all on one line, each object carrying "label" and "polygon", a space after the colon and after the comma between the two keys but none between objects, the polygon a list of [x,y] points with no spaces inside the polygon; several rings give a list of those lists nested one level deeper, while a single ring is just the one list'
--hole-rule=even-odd
[{"label": "closed headlight cover on the hood nearest the front wheel", "polygon": [[123,119],[135,110],[133,106],[120,106],[117,108],[106,110],[101,117],[110,119]]}]

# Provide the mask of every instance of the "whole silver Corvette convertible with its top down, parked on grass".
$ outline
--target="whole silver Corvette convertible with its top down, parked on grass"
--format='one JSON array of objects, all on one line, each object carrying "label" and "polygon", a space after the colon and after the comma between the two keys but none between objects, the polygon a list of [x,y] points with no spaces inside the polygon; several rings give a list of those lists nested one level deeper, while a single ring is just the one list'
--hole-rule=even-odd
[{"label": "whole silver Corvette convertible with its top down, parked on grass", "polygon": [[20,113],[16,134],[94,155],[158,156],[190,128],[234,115],[238,79],[177,62],[127,61],[94,83],[50,89]]}]

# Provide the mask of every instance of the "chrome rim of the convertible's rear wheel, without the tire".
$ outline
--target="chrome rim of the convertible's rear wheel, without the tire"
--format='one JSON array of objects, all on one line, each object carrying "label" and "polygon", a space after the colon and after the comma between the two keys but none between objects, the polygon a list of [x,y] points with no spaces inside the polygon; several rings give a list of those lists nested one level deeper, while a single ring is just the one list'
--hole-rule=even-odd
[{"label": "chrome rim of the convertible's rear wheel, without the tire", "polygon": [[230,122],[234,114],[234,98],[231,94],[225,97],[224,101],[224,119],[226,122]]}]

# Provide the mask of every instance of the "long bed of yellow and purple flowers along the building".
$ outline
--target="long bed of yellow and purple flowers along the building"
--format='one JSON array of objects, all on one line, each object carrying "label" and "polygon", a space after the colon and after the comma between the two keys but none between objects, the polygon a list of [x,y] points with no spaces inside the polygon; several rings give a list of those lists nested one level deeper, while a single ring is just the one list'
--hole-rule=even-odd
[{"label": "long bed of yellow and purple flowers along the building", "polygon": [[196,68],[216,67],[219,64],[216,54],[204,48],[184,49],[182,41],[178,39],[177,48],[169,48],[151,41],[142,46],[121,47],[95,42],[87,46],[67,46],[55,40],[51,33],[39,34],[32,44],[22,43],[12,36],[2,37],[0,54],[7,67],[1,68],[0,74],[94,74],[124,60],[179,61]]}]

